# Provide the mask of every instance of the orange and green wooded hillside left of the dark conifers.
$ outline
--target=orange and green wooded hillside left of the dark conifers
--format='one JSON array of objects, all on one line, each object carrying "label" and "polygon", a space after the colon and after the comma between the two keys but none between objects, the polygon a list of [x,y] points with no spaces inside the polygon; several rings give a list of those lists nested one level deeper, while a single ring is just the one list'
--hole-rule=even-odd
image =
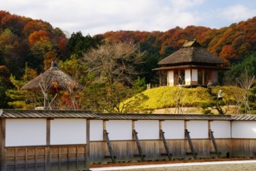
[{"label": "orange and green wooded hillside left of the dark conifers", "polygon": [[67,55],[67,41],[61,29],[50,23],[0,10],[1,77],[20,77],[26,62],[38,73],[44,71],[52,60]]}]

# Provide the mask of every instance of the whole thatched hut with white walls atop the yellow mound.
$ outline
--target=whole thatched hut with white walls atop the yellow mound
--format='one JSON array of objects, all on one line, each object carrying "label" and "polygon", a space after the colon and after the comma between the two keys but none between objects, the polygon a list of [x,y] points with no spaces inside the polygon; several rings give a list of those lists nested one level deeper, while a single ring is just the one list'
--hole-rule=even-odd
[{"label": "whole thatched hut with white walls atop the yellow mound", "polygon": [[224,62],[209,53],[197,40],[187,41],[178,51],[163,58],[154,71],[167,74],[167,85],[206,86],[209,81],[218,84],[218,71],[227,70]]}]

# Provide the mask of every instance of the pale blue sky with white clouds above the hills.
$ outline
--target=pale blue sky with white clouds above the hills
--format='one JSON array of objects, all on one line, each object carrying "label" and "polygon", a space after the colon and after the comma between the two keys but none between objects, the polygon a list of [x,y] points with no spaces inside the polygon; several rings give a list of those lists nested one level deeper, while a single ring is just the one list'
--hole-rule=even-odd
[{"label": "pale blue sky with white clouds above the hills", "polygon": [[1,0],[0,10],[84,35],[221,28],[256,16],[256,0]]}]

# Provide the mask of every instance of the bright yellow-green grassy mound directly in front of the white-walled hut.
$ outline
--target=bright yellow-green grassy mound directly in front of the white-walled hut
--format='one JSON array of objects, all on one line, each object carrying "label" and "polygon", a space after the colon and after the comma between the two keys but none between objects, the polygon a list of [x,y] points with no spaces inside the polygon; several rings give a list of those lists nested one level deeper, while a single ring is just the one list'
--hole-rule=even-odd
[{"label": "bright yellow-green grassy mound directly in front of the white-walled hut", "polygon": [[[181,87],[162,86],[154,89],[145,90],[139,95],[126,101],[135,101],[135,99],[144,95],[144,101],[139,101],[133,110],[157,110],[166,107],[176,107],[180,97],[180,105],[183,107],[198,107],[200,104],[211,101],[211,97],[206,89],[197,87],[194,89],[185,89]],[[131,109],[130,109],[131,110]]]}]

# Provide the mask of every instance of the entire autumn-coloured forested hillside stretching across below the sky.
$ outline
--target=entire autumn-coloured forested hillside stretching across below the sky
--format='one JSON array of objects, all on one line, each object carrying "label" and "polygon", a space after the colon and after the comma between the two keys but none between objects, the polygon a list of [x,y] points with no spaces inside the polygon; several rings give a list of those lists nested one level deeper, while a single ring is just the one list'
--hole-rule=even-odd
[{"label": "entire autumn-coloured forested hillside stretching across below the sky", "polygon": [[165,32],[108,31],[93,38],[84,37],[78,32],[67,39],[61,28],[53,28],[50,23],[0,10],[2,80],[7,80],[11,74],[22,76],[26,62],[30,68],[41,73],[56,58],[64,61],[74,53],[81,57],[86,52],[84,49],[90,49],[90,46],[95,48],[100,40],[139,43],[141,50],[147,52],[145,65],[141,66],[144,68],[142,77],[151,83],[157,82],[151,71],[157,68],[157,62],[179,49],[185,40],[197,38],[209,52],[218,55],[224,59],[226,65],[230,65],[241,62],[245,54],[256,51],[256,17],[220,29],[187,26],[171,28]]}]

